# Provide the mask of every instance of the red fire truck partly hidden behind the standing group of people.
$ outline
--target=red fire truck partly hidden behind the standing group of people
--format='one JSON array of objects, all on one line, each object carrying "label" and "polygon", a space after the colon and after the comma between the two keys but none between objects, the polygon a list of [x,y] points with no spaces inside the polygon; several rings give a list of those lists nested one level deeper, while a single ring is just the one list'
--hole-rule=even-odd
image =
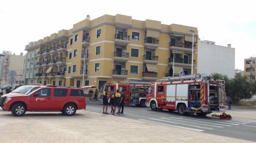
[{"label": "red fire truck partly hidden behind the standing group of people", "polygon": [[124,92],[124,104],[135,104],[136,106],[146,107],[146,92],[151,82],[143,81],[119,81],[119,83],[106,83],[102,86],[101,94],[104,89],[108,89],[108,95],[113,91]]}]

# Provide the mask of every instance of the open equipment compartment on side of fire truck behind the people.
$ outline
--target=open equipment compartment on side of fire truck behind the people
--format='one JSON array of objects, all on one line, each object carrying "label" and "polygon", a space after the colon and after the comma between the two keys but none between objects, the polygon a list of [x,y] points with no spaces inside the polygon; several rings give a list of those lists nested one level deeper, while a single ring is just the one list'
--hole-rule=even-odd
[{"label": "open equipment compartment on side of fire truck behind the people", "polygon": [[146,97],[145,88],[131,87],[130,88],[130,100],[133,104],[140,103],[140,97]]}]

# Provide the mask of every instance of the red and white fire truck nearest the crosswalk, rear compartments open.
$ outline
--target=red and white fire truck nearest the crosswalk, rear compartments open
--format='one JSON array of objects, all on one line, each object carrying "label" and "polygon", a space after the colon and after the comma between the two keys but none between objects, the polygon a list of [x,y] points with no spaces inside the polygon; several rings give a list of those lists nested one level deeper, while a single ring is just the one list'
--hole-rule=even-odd
[{"label": "red and white fire truck nearest the crosswalk, rear compartments open", "polygon": [[213,81],[207,74],[164,77],[148,87],[147,107],[177,110],[180,115],[205,116],[225,112],[225,81]]}]

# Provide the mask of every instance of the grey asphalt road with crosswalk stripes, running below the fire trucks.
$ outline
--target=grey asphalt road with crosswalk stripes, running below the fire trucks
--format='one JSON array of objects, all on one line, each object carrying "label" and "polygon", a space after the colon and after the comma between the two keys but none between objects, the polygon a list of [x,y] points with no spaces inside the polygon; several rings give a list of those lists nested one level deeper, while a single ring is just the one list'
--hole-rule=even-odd
[{"label": "grey asphalt road with crosswalk stripes, running below the fire trucks", "polygon": [[[102,102],[87,101],[86,103],[86,111],[102,112]],[[110,113],[110,111],[111,107],[109,106],[108,113]],[[233,118],[232,120],[223,120],[210,115],[205,117],[199,117],[197,115],[181,116],[178,115],[177,112],[152,111],[148,107],[136,107],[132,104],[125,105],[124,114],[119,116],[213,135],[227,136],[253,142],[256,140],[256,120],[252,119]],[[216,142],[217,140],[218,139],[216,139]]]}]

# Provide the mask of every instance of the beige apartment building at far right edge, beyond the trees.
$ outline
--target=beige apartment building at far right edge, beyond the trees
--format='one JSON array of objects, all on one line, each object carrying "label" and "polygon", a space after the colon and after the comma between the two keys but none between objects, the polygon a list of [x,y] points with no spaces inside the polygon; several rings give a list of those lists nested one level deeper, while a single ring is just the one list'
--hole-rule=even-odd
[{"label": "beige apartment building at far right edge, beyond the trees", "polygon": [[256,57],[250,57],[248,59],[244,59],[244,76],[246,76],[248,81],[252,81],[255,83],[255,60]]}]

